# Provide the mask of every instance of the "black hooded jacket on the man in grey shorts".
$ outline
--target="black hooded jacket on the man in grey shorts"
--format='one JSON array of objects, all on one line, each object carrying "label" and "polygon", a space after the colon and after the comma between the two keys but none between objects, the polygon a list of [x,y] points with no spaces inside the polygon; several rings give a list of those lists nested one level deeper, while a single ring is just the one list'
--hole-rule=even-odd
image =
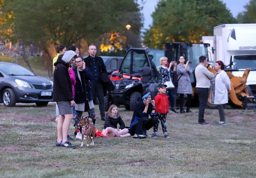
[{"label": "black hooded jacket on the man in grey shorts", "polygon": [[68,73],[68,64],[61,57],[54,63],[53,73],[53,101],[72,101],[72,83]]}]

